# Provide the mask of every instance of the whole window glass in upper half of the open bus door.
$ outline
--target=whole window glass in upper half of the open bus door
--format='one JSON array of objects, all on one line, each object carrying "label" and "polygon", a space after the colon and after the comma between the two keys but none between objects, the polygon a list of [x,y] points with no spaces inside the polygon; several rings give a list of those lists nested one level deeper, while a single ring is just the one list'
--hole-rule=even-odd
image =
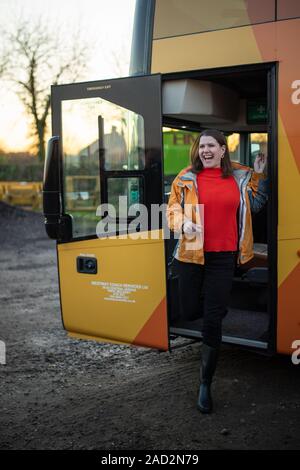
[{"label": "whole window glass in upper half of the open bus door", "polygon": [[[94,235],[99,222],[96,209],[103,202],[100,153],[105,171],[144,169],[143,117],[99,97],[66,100],[62,102],[62,143],[65,212],[72,216],[73,238]],[[111,203],[117,194],[128,192],[132,200],[134,191],[128,188],[133,188],[133,182],[126,180],[127,189],[123,183],[122,178],[111,180]]]}]

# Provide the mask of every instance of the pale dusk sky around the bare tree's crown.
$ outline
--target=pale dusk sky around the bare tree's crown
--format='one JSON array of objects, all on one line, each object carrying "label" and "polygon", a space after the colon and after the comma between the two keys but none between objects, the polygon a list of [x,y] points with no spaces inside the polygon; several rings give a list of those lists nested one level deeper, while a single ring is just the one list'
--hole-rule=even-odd
[{"label": "pale dusk sky around the bare tree's crown", "polygon": [[[55,30],[60,25],[66,37],[84,31],[92,45],[92,57],[84,80],[101,80],[118,75],[112,53],[122,58],[122,75],[127,75],[135,0],[0,0],[2,25],[13,25],[17,17],[36,22],[45,18]],[[31,144],[28,118],[12,86],[1,80],[0,147],[27,150]]]}]

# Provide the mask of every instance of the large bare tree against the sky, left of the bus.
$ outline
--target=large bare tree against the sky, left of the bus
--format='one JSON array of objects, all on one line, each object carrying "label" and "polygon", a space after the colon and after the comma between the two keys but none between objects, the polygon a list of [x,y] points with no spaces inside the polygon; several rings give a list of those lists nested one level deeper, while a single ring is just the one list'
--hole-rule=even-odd
[{"label": "large bare tree against the sky, left of the bus", "polygon": [[45,159],[45,134],[50,113],[51,85],[74,81],[83,73],[87,46],[81,34],[67,42],[61,32],[51,31],[45,20],[37,24],[25,20],[6,33],[9,51],[8,78],[31,119],[40,161]]}]

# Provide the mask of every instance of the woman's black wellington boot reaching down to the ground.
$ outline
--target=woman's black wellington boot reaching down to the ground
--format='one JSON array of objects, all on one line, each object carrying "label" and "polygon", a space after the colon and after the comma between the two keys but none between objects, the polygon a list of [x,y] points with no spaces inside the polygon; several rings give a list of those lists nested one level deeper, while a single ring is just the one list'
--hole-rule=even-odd
[{"label": "woman's black wellington boot reaching down to the ground", "polygon": [[219,355],[218,348],[212,348],[207,344],[202,346],[202,368],[201,368],[201,385],[199,390],[197,408],[201,413],[211,413],[213,402],[210,392],[210,386],[213,375],[216,370]]}]

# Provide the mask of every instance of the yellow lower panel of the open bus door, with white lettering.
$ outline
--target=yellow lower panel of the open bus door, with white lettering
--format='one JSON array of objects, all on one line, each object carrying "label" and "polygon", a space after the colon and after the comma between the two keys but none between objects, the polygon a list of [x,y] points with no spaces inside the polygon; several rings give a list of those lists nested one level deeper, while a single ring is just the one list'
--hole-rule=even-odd
[{"label": "yellow lower panel of the open bus door, with white lettering", "polygon": [[[62,314],[69,332],[132,343],[157,311],[162,311],[158,325],[163,330],[164,240],[157,234],[158,240],[119,237],[58,245]],[[78,273],[78,256],[97,258],[98,273]],[[161,331],[153,331],[153,343],[155,336]]]}]

